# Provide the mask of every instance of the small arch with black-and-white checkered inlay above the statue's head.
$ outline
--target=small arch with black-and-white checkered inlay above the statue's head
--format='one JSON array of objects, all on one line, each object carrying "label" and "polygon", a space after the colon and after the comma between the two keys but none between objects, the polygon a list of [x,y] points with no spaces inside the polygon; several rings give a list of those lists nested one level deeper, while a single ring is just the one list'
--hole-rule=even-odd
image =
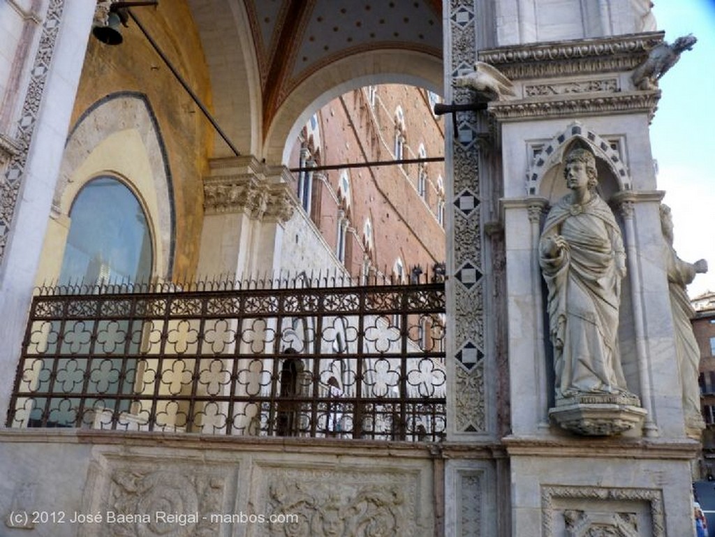
[{"label": "small arch with black-and-white checkered inlay above the statue's head", "polygon": [[[544,190],[548,187],[548,181],[553,180],[553,170],[563,161],[564,150],[571,147],[576,140],[591,147],[600,166],[605,166],[608,175],[615,179],[617,190],[632,188],[631,176],[628,174],[626,165],[611,144],[580,122],[573,122],[563,132],[551,139],[551,142],[548,142],[541,153],[531,162],[526,180],[529,195],[546,195]],[[546,195],[546,197],[549,196]],[[606,195],[606,197],[610,196]]]}]

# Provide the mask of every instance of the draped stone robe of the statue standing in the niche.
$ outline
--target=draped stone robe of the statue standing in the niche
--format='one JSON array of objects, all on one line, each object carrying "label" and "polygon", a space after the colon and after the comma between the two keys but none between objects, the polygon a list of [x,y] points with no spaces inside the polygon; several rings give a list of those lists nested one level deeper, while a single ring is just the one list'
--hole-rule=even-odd
[{"label": "draped stone robe of the statue standing in the niche", "polygon": [[[548,239],[568,247],[548,257]],[[548,287],[556,396],[626,391],[618,353],[618,306],[625,251],[613,212],[597,195],[559,200],[546,218],[540,263]]]}]

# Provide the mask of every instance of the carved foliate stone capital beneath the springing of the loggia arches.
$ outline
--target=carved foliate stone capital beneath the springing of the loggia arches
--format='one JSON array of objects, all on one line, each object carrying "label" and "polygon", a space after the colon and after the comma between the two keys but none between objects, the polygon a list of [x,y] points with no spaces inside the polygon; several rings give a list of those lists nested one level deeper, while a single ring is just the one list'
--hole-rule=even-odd
[{"label": "carved foliate stone capital beneath the springing of the loggia arches", "polygon": [[204,177],[207,215],[242,212],[255,220],[285,223],[295,212],[297,199],[285,167],[271,167],[255,157],[215,159]]}]

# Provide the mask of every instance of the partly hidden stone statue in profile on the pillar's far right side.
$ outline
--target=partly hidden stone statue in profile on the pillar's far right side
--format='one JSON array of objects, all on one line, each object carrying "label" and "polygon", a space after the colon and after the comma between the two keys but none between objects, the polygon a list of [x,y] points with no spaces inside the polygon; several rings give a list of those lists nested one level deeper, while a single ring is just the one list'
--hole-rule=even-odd
[{"label": "partly hidden stone statue in profile on the pillar's far right side", "polygon": [[700,414],[700,388],[698,385],[700,348],[693,333],[691,319],[695,310],[686,292],[696,274],[708,271],[708,263],[701,259],[694,263],[681,260],[673,248],[673,218],[670,207],[661,205],[661,229],[666,241],[665,260],[668,273],[671,312],[675,329],[675,350],[683,390],[685,425],[689,435],[700,438],[705,422]]}]

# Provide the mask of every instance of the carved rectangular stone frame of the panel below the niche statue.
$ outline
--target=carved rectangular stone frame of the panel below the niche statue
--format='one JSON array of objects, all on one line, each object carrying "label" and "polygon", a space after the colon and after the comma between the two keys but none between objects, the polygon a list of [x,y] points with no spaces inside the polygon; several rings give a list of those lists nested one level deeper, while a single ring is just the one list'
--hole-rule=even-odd
[{"label": "carved rectangular stone frame of the panel below the niche statue", "polygon": [[[553,519],[558,511],[555,502],[558,499],[587,501],[588,503],[593,503],[594,507],[598,506],[599,502],[605,501],[646,503],[651,515],[651,532],[649,535],[652,537],[666,537],[663,494],[658,489],[543,485],[541,486],[541,535],[544,537],[556,537]],[[575,521],[568,511],[563,511],[567,527],[569,520],[571,522]],[[573,535],[571,532],[570,534]],[[623,535],[623,533],[613,533],[613,535],[619,534]]]}]

